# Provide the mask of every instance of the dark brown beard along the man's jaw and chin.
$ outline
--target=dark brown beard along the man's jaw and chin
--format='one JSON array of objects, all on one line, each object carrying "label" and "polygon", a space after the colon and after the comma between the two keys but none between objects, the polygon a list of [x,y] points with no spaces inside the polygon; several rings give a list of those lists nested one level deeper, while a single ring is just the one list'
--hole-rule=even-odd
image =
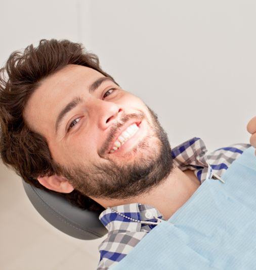
[{"label": "dark brown beard along the man's jaw and chin", "polygon": [[[91,168],[81,165],[68,168],[57,164],[58,171],[69,180],[75,190],[88,197],[126,199],[145,194],[164,182],[174,168],[172,153],[167,134],[157,115],[148,106],[147,108],[153,120],[154,136],[158,138],[158,153],[150,153],[148,158],[122,166],[112,160],[107,160],[106,164],[94,164]],[[126,115],[124,119],[130,118],[131,116]],[[143,149],[148,151],[151,146],[147,142],[147,138],[141,141],[133,149],[133,155],[136,156],[136,152]]]}]

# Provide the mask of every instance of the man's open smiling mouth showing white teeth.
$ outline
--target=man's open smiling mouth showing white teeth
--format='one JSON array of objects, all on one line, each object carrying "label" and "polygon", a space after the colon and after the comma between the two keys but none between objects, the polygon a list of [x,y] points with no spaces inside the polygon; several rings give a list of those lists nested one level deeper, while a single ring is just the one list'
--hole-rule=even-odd
[{"label": "man's open smiling mouth showing white teeth", "polygon": [[129,125],[114,141],[109,154],[120,153],[129,150],[137,143],[141,133],[142,122],[136,122]]}]

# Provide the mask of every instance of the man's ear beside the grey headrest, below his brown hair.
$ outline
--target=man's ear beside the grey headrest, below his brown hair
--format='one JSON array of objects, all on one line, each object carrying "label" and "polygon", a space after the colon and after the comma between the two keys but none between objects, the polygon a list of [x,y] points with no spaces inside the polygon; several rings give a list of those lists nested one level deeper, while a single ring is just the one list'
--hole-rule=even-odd
[{"label": "man's ear beside the grey headrest, below his brown hair", "polygon": [[42,176],[37,178],[38,182],[49,190],[61,193],[70,193],[74,190],[73,186],[63,176],[56,174],[51,176]]}]

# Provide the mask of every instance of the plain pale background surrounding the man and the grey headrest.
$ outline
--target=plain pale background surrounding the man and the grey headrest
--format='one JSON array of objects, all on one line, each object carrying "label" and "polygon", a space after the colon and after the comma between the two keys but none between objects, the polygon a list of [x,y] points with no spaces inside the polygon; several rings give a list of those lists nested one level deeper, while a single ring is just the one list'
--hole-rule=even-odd
[{"label": "plain pale background surrounding the man and the grey headrest", "polygon": [[[3,1],[0,64],[42,38],[70,39],[158,115],[173,147],[249,143],[256,115],[256,3],[241,1]],[[32,207],[1,166],[0,268],[95,269],[103,239],[81,241]]]}]

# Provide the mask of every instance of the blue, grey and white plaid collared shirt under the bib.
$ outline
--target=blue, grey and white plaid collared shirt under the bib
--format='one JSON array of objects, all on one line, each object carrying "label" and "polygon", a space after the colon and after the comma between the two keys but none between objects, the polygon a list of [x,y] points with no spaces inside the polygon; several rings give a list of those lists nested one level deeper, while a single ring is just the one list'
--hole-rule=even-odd
[{"label": "blue, grey and white plaid collared shirt under the bib", "polygon": [[[174,164],[182,171],[193,170],[201,184],[213,174],[221,176],[230,164],[238,158],[249,144],[234,144],[219,148],[207,154],[206,147],[200,138],[192,138],[172,150]],[[115,211],[128,217],[153,221],[162,214],[150,205],[131,203],[112,207]],[[152,216],[151,218],[150,215]],[[107,228],[107,238],[100,244],[100,262],[97,270],[106,270],[115,265],[135,247],[139,241],[156,225],[142,224],[118,215],[111,209],[104,210],[100,221]]]}]

